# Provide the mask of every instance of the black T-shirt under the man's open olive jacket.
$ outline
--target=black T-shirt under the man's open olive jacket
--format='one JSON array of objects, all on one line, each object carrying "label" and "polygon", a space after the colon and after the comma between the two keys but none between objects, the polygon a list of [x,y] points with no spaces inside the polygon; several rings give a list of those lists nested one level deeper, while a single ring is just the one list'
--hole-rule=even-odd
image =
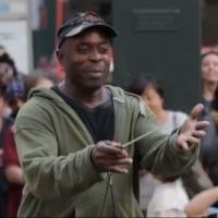
[{"label": "black T-shirt under the man's open olive jacket", "polygon": [[64,101],[71,106],[82,121],[85,123],[87,130],[94,138],[94,142],[112,141],[114,132],[114,110],[112,105],[112,97],[95,108],[88,108],[76,100],[72,100],[64,96],[58,88],[52,87]]}]

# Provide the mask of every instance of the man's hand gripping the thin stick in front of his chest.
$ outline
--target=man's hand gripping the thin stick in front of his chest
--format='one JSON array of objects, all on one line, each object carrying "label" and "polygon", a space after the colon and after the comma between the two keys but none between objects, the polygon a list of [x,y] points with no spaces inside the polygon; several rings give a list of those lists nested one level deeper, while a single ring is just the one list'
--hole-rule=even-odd
[{"label": "man's hand gripping the thin stick in front of his chest", "polygon": [[101,141],[92,150],[92,159],[100,172],[128,173],[133,160],[122,145],[112,141]]}]

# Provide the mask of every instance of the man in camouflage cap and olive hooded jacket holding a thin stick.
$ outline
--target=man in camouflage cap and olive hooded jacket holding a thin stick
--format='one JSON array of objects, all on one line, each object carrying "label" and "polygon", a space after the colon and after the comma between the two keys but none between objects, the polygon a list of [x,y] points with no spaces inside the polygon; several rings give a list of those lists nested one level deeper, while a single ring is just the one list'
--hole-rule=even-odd
[{"label": "man in camouflage cap and olive hooded jacket holding a thin stick", "polygon": [[195,161],[208,125],[197,121],[202,105],[168,136],[137,96],[104,85],[116,35],[93,12],[59,29],[65,78],[32,92],[16,118],[26,182],[19,216],[140,217],[133,185],[138,167],[174,175]]}]

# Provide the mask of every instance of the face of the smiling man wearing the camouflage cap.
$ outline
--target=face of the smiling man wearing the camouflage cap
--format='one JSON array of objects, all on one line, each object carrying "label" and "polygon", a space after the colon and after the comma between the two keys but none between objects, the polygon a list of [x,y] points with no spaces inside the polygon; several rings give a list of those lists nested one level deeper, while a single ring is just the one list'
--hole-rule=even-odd
[{"label": "face of the smiling man wearing the camouflage cap", "polygon": [[66,39],[58,53],[65,70],[65,80],[72,86],[95,90],[108,76],[112,47],[109,38],[99,29],[89,29]]}]

